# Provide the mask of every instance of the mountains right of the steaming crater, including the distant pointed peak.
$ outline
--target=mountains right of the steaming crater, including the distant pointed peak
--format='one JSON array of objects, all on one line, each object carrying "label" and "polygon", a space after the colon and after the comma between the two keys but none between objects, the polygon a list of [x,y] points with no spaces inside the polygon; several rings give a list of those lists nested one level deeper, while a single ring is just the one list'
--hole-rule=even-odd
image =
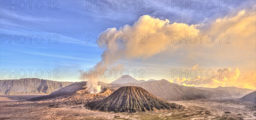
[{"label": "mountains right of the steaming crater, including the distant pointed peak", "polygon": [[[111,84],[114,87],[120,86],[140,86],[143,89],[151,92],[158,97],[164,98],[166,100],[193,100],[198,98],[210,98],[210,97],[234,97],[240,98],[244,95],[251,93],[255,90],[253,89],[241,89],[237,87],[221,87],[218,88],[205,88],[205,87],[187,87],[181,86],[175,83],[170,83],[167,80],[148,80],[145,82],[140,82],[142,80],[136,80],[133,77],[125,76],[119,77],[117,80],[113,81]],[[119,84],[114,84],[119,83]],[[156,87],[157,86],[157,87]],[[194,89],[193,89],[194,88]],[[201,91],[204,90],[204,91]],[[161,91],[161,93],[159,93]],[[172,91],[172,92],[169,92]],[[170,97],[172,96],[172,97]]]}]

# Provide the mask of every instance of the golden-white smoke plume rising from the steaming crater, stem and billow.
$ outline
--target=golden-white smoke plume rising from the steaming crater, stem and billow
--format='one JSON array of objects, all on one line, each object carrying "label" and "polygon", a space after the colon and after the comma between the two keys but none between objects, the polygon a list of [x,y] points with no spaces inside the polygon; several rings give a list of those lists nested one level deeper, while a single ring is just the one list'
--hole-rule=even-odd
[{"label": "golden-white smoke plume rising from the steaming crater, stem and billow", "polygon": [[[198,30],[193,25],[189,26],[184,23],[169,24],[169,20],[167,19],[160,20],[148,15],[141,16],[133,26],[125,25],[119,29],[111,28],[102,32],[102,37],[110,36],[112,38],[110,43],[100,43],[100,41],[97,41],[98,45],[105,49],[105,51],[101,55],[102,60],[97,63],[93,69],[97,72],[100,70],[104,71],[105,69],[113,67],[121,58],[145,59],[152,57],[154,54],[158,54],[161,51],[166,50],[169,46],[174,46],[169,39],[171,38],[171,34],[191,35],[197,33]],[[127,36],[129,41],[127,43],[122,43],[120,37],[116,37],[116,39],[114,39],[114,36],[117,35],[120,37]],[[134,35],[137,40],[132,39]],[[139,44],[139,41],[142,44]],[[101,87],[98,85],[99,77],[95,76],[94,73],[81,73],[82,78],[85,78],[86,75],[88,75],[87,87],[90,93],[99,93]]]}]

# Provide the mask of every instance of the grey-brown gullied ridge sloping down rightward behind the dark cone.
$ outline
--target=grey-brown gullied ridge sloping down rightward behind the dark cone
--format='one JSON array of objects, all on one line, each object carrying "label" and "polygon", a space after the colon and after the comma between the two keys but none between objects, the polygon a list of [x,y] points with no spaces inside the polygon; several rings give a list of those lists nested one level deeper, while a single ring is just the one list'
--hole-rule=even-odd
[{"label": "grey-brown gullied ridge sloping down rightward behind the dark cone", "polygon": [[212,97],[229,97],[217,92],[170,83],[164,79],[144,83],[113,84],[112,86],[139,86],[149,91],[151,94],[163,98],[164,100],[196,100]]}]

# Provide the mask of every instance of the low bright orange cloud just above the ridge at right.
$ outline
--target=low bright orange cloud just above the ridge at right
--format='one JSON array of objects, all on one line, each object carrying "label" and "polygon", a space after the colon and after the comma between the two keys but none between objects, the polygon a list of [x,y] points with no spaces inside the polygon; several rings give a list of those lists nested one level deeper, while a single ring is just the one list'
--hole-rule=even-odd
[{"label": "low bright orange cloud just above the ridge at right", "polygon": [[215,75],[211,78],[197,76],[192,79],[176,78],[170,80],[183,86],[209,87],[216,88],[218,86],[236,86],[239,88],[256,89],[256,74],[252,72],[246,76],[241,76],[238,68],[235,69],[219,69],[215,71]]}]

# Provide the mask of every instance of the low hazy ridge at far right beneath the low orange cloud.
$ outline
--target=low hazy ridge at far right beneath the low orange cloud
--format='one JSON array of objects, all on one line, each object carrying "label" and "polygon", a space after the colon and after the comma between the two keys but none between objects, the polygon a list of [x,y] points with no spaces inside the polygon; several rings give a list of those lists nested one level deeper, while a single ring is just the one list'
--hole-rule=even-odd
[{"label": "low hazy ridge at far right beneath the low orange cloud", "polygon": [[237,87],[221,87],[219,86],[218,88],[205,88],[205,87],[197,87],[198,89],[203,89],[203,90],[208,90],[208,91],[213,91],[213,92],[218,92],[218,93],[222,93],[222,94],[227,94],[231,97],[236,97],[236,98],[240,98],[243,97],[246,94],[249,94],[255,90],[252,89],[241,89],[241,88],[237,88]]}]

